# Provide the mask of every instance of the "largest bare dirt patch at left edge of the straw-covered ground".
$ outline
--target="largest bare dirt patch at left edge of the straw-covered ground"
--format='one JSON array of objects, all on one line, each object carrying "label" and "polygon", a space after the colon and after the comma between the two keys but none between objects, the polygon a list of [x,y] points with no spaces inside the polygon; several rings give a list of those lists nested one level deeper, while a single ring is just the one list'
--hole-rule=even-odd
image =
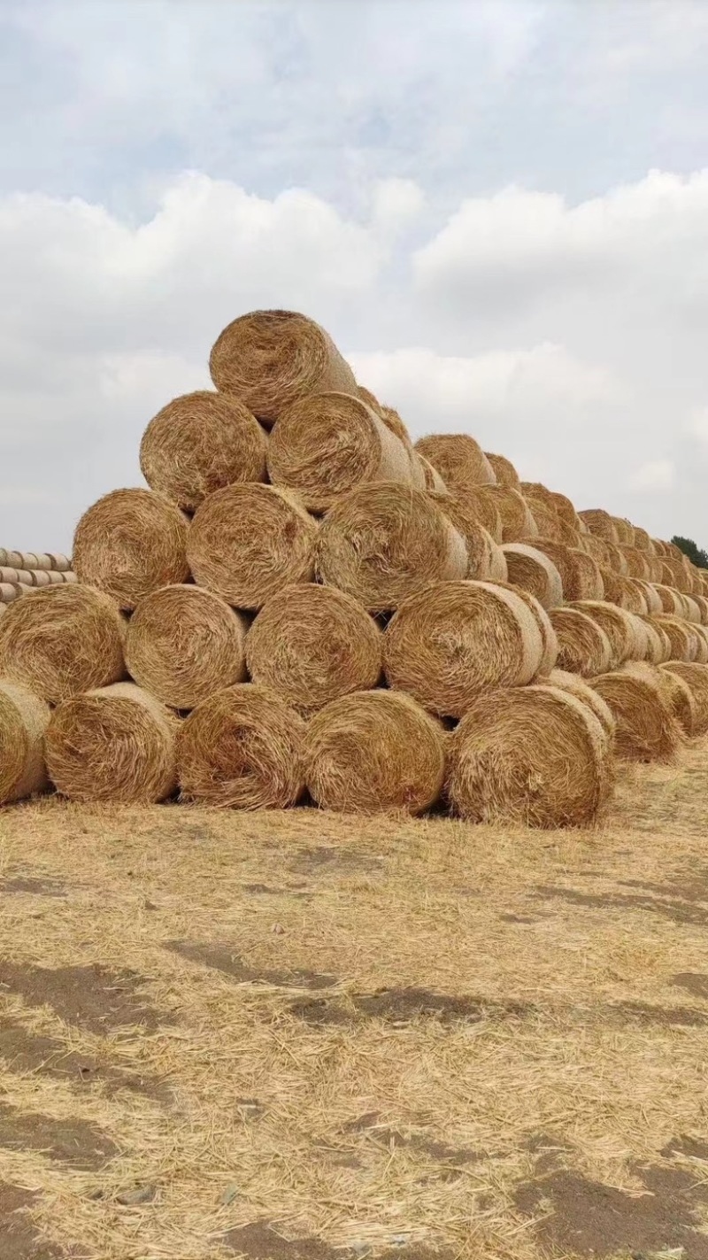
[{"label": "largest bare dirt patch at left edge of the straw-covered ground", "polygon": [[0,992],[15,993],[28,1005],[49,1005],[67,1023],[106,1036],[139,1024],[155,1032],[169,1017],[149,1005],[140,988],[145,976],[93,963],[88,966],[35,966],[0,959]]}]

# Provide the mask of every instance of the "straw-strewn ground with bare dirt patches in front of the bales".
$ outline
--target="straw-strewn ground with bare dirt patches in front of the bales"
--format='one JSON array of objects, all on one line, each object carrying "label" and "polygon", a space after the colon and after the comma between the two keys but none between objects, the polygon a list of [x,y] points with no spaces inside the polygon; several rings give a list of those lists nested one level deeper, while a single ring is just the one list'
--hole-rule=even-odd
[{"label": "straw-strewn ground with bare dirt patches in front of the bales", "polygon": [[708,747],[585,833],[18,806],[0,914],[3,1260],[708,1257]]}]

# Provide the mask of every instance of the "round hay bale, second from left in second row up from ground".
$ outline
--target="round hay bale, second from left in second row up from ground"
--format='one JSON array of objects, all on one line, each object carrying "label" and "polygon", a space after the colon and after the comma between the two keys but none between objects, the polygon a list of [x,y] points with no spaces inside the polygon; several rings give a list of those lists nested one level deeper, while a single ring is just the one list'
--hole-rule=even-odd
[{"label": "round hay bale, second from left in second row up from ground", "polygon": [[163,586],[130,619],[128,672],[163,704],[195,708],[246,678],[246,619],[212,591]]}]

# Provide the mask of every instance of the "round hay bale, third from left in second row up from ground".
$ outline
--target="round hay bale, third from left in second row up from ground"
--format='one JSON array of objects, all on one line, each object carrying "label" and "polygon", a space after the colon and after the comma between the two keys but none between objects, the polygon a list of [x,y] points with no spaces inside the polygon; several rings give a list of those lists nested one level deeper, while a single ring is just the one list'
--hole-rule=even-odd
[{"label": "round hay bale, third from left in second row up from ground", "polygon": [[309,717],[375,687],[383,635],[357,600],[334,586],[287,586],[261,609],[246,640],[248,673]]}]

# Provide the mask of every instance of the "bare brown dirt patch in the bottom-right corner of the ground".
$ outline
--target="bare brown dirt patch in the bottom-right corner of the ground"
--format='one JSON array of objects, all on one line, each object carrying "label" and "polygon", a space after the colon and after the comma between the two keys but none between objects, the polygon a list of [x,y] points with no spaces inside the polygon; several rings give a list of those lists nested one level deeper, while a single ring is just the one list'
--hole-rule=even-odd
[{"label": "bare brown dirt patch in the bottom-right corner of the ground", "polygon": [[645,1194],[629,1194],[574,1172],[556,1172],[519,1187],[515,1203],[524,1216],[540,1217],[534,1226],[539,1242],[564,1254],[615,1257],[625,1251],[645,1255],[683,1247],[683,1260],[708,1260],[708,1235],[697,1230],[705,1187],[674,1168],[656,1166],[637,1173]]}]

